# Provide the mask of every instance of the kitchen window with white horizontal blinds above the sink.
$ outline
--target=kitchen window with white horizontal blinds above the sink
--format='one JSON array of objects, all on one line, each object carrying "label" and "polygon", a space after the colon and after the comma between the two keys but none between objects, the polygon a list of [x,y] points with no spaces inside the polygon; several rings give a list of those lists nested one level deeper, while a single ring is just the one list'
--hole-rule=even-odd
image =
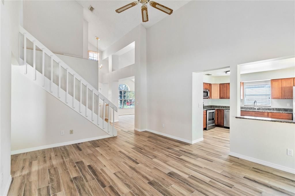
[{"label": "kitchen window with white horizontal blinds above the sink", "polygon": [[245,85],[244,93],[244,105],[253,105],[257,101],[259,106],[271,106],[270,84]]}]

